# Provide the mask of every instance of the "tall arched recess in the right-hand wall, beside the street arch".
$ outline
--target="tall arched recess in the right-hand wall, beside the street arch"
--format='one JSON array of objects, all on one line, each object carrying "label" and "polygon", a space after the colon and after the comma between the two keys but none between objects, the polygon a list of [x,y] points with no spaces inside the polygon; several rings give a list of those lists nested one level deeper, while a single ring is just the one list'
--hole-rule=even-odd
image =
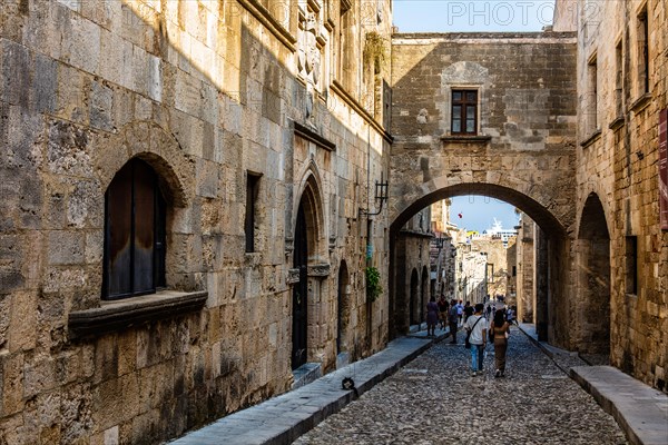
[{"label": "tall arched recess in the right-hand wall, beside the street arch", "polygon": [[580,218],[577,240],[578,349],[610,353],[610,235],[603,206],[590,194]]}]

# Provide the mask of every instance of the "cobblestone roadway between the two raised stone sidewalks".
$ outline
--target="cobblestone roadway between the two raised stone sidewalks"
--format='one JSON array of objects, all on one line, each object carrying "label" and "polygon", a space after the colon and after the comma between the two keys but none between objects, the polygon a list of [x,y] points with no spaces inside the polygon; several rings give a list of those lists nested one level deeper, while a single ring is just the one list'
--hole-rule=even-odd
[{"label": "cobblestone roadway between the two raised stone sidewalks", "polygon": [[434,345],[295,444],[627,443],[615,419],[517,328],[504,378],[494,378],[491,346],[483,375],[471,376],[463,336]]}]

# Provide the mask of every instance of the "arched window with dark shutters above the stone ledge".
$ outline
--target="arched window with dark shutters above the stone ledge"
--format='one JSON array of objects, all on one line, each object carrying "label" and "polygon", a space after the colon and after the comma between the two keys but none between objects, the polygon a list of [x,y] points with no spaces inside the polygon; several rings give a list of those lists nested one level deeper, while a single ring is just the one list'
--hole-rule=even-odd
[{"label": "arched window with dark shutters above the stone ledge", "polygon": [[116,174],[105,194],[104,299],[165,286],[165,208],[148,164],[135,158]]}]

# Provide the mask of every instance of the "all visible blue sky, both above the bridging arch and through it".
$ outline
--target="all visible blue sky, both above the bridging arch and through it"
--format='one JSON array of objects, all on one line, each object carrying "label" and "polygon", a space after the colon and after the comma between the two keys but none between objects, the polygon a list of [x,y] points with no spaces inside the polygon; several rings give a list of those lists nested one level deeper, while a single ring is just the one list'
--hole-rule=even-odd
[{"label": "all visible blue sky, both above the bridging arch and through it", "polygon": [[[532,32],[552,24],[554,0],[393,0],[392,8],[399,32]],[[504,229],[518,224],[514,207],[504,201],[452,198],[450,220],[459,227],[482,231],[494,218]]]}]

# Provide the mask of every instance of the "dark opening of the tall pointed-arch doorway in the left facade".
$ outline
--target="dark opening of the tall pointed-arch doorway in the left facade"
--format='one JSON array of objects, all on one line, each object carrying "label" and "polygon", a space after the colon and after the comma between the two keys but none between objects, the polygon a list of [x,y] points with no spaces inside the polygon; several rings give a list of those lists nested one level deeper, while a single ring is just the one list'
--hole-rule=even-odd
[{"label": "dark opening of the tall pointed-arch doorway in the left facade", "polygon": [[307,359],[308,335],[308,233],[304,206],[297,210],[293,268],[299,270],[299,280],[293,286],[292,368]]}]

